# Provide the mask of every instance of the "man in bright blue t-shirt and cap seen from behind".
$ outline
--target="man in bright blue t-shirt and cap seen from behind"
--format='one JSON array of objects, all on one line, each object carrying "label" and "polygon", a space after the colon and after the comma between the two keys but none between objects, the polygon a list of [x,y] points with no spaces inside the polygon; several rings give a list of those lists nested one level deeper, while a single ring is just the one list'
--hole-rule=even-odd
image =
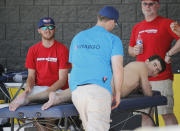
[{"label": "man in bright blue t-shirt and cap seen from behind", "polygon": [[98,14],[96,26],[78,33],[72,40],[69,62],[73,68],[69,86],[72,101],[86,131],[108,131],[112,104],[111,79],[115,84],[115,108],[120,103],[123,82],[123,47],[110,33],[119,17],[112,6]]}]

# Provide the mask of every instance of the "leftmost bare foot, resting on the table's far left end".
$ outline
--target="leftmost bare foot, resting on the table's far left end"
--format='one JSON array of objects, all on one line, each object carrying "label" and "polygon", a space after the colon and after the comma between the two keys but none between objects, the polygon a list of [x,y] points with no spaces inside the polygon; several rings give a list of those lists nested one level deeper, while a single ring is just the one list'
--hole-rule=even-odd
[{"label": "leftmost bare foot, resting on the table's far left end", "polygon": [[24,91],[18,95],[9,105],[10,111],[15,111],[18,107],[28,104],[27,93]]}]

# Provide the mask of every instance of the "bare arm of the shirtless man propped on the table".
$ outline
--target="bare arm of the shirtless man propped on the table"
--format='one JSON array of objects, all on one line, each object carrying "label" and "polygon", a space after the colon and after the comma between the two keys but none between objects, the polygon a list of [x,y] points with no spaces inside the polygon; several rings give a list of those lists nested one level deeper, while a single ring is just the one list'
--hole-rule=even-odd
[{"label": "bare arm of the shirtless man propped on the table", "polygon": [[143,94],[145,96],[152,96],[152,88],[148,80],[148,72],[147,70],[143,70],[143,68],[141,68],[141,71],[140,71],[140,83],[141,83]]}]

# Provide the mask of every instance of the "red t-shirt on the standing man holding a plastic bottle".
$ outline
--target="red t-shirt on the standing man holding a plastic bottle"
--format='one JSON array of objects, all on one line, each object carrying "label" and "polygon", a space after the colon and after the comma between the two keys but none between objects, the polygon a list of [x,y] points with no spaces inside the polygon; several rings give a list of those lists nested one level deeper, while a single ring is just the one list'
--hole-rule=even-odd
[{"label": "red t-shirt on the standing man holding a plastic bottle", "polygon": [[[168,18],[158,16],[151,22],[144,20],[133,27],[129,45],[131,47],[136,45],[138,34],[140,34],[143,41],[143,54],[137,56],[137,61],[145,61],[152,55],[165,58],[166,52],[171,48],[172,41],[179,39],[170,28],[171,22],[173,21]],[[157,77],[151,77],[149,80],[159,81],[165,79],[173,79],[170,64],[166,65],[166,70],[163,73]]]}]

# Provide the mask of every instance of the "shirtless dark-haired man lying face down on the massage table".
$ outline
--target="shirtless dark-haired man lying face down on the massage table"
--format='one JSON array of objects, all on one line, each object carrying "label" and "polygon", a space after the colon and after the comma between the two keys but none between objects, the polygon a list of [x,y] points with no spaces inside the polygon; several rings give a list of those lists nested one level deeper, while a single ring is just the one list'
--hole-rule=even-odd
[{"label": "shirtless dark-haired man lying face down on the massage table", "polygon": [[[166,69],[164,60],[153,55],[145,62],[130,62],[124,67],[124,81],[121,90],[121,97],[128,96],[133,90],[142,88],[143,94],[152,96],[152,89],[148,77],[156,76]],[[111,82],[113,95],[115,96],[114,83]],[[42,106],[42,110],[48,109],[53,105],[71,100],[71,91],[66,89],[60,93],[51,92],[49,101]]]}]

